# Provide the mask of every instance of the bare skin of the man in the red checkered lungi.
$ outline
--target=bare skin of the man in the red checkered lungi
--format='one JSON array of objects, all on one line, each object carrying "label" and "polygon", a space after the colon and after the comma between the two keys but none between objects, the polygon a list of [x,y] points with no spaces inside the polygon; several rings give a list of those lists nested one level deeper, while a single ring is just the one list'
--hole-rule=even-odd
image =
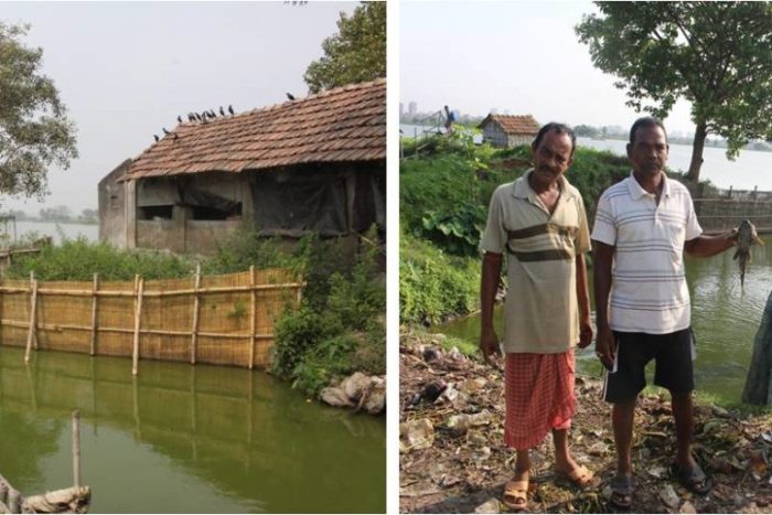
[{"label": "bare skin of the man in the red checkered lungi", "polygon": [[[528,184],[538,195],[544,208],[551,215],[560,197],[559,181],[571,164],[573,146],[571,139],[561,132],[549,131],[544,135],[538,147],[532,147],[534,172],[529,175]],[[592,341],[592,323],[590,321],[590,298],[587,287],[585,256],[576,257],[577,299],[579,303],[580,341],[578,346],[585,348]],[[501,369],[502,357],[498,336],[493,328],[493,307],[495,304],[498,278],[502,270],[502,255],[485,253],[482,262],[482,280],[480,287],[481,332],[480,351],[487,364]],[[560,472],[571,472],[579,465],[568,450],[568,430],[554,429],[556,469]],[[530,459],[528,450],[517,450],[514,481],[528,480]]]}]

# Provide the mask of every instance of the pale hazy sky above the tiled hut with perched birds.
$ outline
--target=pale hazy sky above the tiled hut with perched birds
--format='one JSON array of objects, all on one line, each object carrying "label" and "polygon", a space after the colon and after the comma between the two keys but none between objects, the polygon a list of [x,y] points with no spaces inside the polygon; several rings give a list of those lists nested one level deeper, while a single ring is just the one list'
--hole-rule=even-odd
[{"label": "pale hazy sky above the tiled hut with perched birds", "polygon": [[79,159],[50,170],[43,203],[0,196],[0,210],[97,207],[97,183],[153,143],[176,116],[233,104],[237,111],[304,96],[303,73],[322,56],[339,13],[356,2],[0,2],[0,21],[32,25],[77,125]]}]

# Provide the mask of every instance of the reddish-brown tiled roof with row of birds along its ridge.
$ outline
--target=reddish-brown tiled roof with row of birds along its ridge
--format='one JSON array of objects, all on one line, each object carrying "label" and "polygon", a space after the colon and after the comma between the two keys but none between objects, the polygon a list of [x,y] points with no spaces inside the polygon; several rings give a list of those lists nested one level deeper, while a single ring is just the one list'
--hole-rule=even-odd
[{"label": "reddish-brown tiled roof with row of birds along its ridge", "polygon": [[121,180],[300,163],[386,159],[386,79],[270,107],[180,124]]}]

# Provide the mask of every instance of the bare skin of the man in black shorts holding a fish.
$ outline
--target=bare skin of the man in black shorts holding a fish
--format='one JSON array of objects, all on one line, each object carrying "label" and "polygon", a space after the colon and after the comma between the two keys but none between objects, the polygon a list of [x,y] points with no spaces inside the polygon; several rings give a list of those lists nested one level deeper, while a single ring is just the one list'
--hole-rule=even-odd
[{"label": "bare skin of the man in black shorts holding a fish", "polygon": [[[628,159],[633,167],[633,176],[641,186],[655,195],[657,204],[664,184],[664,168],[667,162],[668,144],[661,127],[642,127],[635,131],[634,140],[628,143]],[[718,236],[698,236],[684,244],[689,256],[709,257],[735,246],[736,232]],[[603,365],[611,369],[616,353],[616,344],[609,326],[608,305],[611,291],[611,266],[614,247],[601,242],[592,242],[592,264],[594,275],[596,316],[598,340],[596,354]],[[682,468],[694,466],[690,451],[694,428],[691,394],[671,391],[673,415],[676,422],[676,461]],[[616,471],[632,474],[633,419],[636,399],[614,404],[612,426],[616,443]],[[629,501],[629,500],[624,500]]]}]

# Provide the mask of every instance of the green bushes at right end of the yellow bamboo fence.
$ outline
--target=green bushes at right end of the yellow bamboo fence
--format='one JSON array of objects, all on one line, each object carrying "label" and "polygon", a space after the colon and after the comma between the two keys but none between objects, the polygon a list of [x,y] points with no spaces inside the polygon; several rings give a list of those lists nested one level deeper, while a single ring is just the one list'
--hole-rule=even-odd
[{"label": "green bushes at right end of the yellow bamboo fence", "polygon": [[[368,240],[377,239],[375,230]],[[385,373],[386,285],[378,272],[379,253],[364,246],[350,268],[341,267],[345,261],[335,253],[313,256],[303,277],[314,289],[307,287],[301,308],[285,313],[276,326],[275,373],[309,395],[318,395],[335,376]]]}]

